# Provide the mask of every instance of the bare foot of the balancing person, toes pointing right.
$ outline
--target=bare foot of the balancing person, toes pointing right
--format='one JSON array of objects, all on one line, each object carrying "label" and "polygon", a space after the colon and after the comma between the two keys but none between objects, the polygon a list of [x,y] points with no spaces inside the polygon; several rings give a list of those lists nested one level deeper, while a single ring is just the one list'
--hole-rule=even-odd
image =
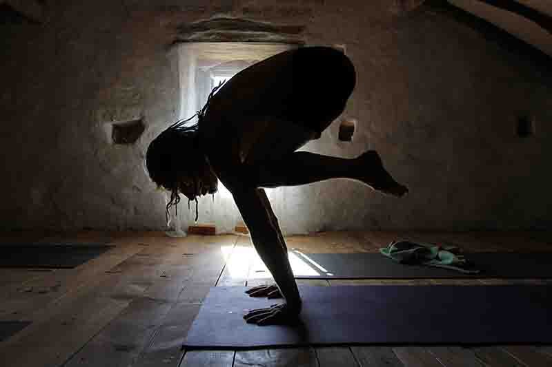
[{"label": "bare foot of the balancing person, toes pointing right", "polygon": [[395,181],[384,168],[382,158],[375,150],[368,150],[357,157],[362,176],[359,180],[376,191],[400,198],[408,193],[408,188]]}]

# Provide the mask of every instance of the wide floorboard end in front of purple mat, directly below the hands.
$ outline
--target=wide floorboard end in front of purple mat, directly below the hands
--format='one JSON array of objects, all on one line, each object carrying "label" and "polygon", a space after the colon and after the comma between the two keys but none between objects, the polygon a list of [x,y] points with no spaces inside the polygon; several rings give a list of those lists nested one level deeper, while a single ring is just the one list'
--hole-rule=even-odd
[{"label": "wide floorboard end in front of purple mat, directly below the hands", "polygon": [[[313,348],[237,351],[234,367],[317,367]],[[335,365],[337,366],[337,365]]]}]

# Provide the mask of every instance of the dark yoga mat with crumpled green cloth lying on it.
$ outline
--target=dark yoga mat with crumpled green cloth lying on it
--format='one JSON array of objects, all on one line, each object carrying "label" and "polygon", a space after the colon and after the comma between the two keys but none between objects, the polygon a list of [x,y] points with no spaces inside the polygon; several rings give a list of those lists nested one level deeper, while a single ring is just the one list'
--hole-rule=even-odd
[{"label": "dark yoga mat with crumpled green cloth lying on it", "polygon": [[397,264],[381,253],[293,253],[319,273],[295,276],[302,279],[552,277],[552,253],[466,253],[475,269],[480,270],[477,274]]}]

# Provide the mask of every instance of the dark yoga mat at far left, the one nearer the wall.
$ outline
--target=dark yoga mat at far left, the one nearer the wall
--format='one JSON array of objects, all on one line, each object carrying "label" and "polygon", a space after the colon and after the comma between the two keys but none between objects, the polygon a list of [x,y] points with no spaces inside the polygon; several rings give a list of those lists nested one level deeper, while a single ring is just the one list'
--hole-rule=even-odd
[{"label": "dark yoga mat at far left, the one nearer the wall", "polygon": [[1,268],[70,269],[105,253],[104,244],[14,244],[0,246]]}]

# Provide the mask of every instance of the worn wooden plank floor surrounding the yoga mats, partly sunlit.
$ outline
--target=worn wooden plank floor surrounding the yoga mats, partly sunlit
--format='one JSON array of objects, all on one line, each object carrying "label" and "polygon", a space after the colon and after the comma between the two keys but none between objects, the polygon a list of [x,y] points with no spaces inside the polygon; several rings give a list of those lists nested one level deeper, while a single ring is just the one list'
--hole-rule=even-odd
[{"label": "worn wooden plank floor surrounding the yoga mats, partly sunlit", "polygon": [[[371,252],[391,240],[466,251],[552,251],[548,233],[333,232],[287,238],[305,253]],[[0,321],[32,324],[0,342],[0,366],[552,366],[551,346],[351,346],[181,350],[211,286],[270,282],[249,238],[164,233],[3,235],[14,242],[102,242],[115,249],[76,269],[0,269]],[[552,280],[301,280],[301,284],[551,284]],[[515,315],[513,315],[515,317]],[[552,329],[551,329],[552,332]]]}]

